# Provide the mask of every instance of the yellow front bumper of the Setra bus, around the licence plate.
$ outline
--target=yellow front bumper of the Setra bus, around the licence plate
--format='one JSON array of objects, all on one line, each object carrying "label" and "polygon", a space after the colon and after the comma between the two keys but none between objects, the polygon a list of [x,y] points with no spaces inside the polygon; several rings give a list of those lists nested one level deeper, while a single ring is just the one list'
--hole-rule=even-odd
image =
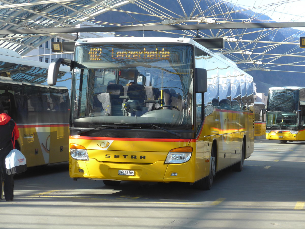
[{"label": "yellow front bumper of the Setra bus, around the licence plate", "polygon": [[[191,163],[188,162],[164,164],[164,161],[157,161],[149,164],[120,164],[99,162],[94,158],[89,158],[89,161],[70,158],[69,171],[71,178],[89,178],[92,180],[195,182]],[[131,173],[134,175],[119,175],[122,171],[133,171]]]}]

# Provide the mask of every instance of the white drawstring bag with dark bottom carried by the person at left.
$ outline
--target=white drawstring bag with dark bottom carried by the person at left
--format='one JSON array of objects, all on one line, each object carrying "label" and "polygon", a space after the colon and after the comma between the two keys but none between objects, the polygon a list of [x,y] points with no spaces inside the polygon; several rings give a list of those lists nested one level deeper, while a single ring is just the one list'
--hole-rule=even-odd
[{"label": "white drawstring bag with dark bottom carried by the person at left", "polygon": [[24,155],[17,149],[13,149],[5,157],[6,174],[12,175],[27,170],[27,161]]}]

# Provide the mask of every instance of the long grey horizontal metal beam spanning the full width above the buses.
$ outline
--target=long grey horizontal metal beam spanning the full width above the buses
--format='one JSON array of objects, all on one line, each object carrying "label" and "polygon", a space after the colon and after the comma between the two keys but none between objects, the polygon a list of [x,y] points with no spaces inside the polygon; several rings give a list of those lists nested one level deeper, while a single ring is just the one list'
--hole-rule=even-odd
[{"label": "long grey horizontal metal beam spanning the full width above the buses", "polygon": [[194,25],[133,25],[111,27],[57,27],[41,29],[12,29],[0,30],[2,34],[49,34],[49,33],[90,33],[118,31],[156,31],[156,30],[190,30],[190,29],[245,29],[245,28],[284,28],[305,27],[305,22],[270,22],[270,23],[228,23],[228,24],[194,24]]}]

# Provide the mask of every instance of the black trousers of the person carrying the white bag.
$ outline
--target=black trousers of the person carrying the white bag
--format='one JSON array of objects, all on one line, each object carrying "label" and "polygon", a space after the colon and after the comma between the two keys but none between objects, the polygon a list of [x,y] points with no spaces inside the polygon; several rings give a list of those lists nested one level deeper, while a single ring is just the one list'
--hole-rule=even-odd
[{"label": "black trousers of the person carrying the white bag", "polygon": [[2,177],[4,178],[4,197],[5,200],[12,200],[14,198],[14,175],[7,175],[5,172],[5,157],[6,155],[0,154],[0,172],[2,172],[1,176],[1,184],[0,191],[2,192]]}]

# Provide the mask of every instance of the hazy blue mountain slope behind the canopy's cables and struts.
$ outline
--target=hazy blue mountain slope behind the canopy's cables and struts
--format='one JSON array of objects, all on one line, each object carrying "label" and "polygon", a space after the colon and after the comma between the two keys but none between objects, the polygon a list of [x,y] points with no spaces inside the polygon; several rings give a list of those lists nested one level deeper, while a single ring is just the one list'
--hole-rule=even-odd
[{"label": "hazy blue mountain slope behind the canopy's cables and struts", "polygon": [[[141,1],[145,2],[145,1]],[[103,13],[99,16],[95,17],[95,20],[100,22],[107,22],[112,24],[123,24],[124,25],[131,25],[131,24],[141,24],[141,23],[148,23],[151,22],[160,22],[162,19],[155,16],[150,16],[147,14],[150,14],[147,12],[147,10],[152,11],[154,9],[160,9],[160,13],[162,11],[163,15],[173,15],[174,12],[177,15],[184,15],[181,6],[176,1],[164,1],[164,0],[154,0],[155,4],[150,3],[154,8],[150,8],[148,5],[142,5],[139,7],[137,4],[127,4],[119,9],[121,12],[112,12],[109,11],[107,13]],[[193,1],[190,0],[181,0],[181,5],[183,6],[183,9],[185,10],[186,14],[189,15],[188,12],[192,12],[194,8]],[[249,22],[249,18],[253,17],[255,19],[254,22],[258,22],[257,20],[261,22],[274,22],[266,15],[260,15],[257,16],[257,13],[251,10],[243,11],[243,8],[238,5],[233,5],[230,3],[223,3],[223,1],[217,1],[217,0],[205,0],[205,1],[199,1],[200,2],[200,9],[204,11],[205,16],[209,15],[217,15],[217,20],[221,20],[222,18],[228,18],[228,14],[223,14],[222,12],[231,12],[234,11],[235,13],[230,13],[231,18],[234,18],[235,21],[244,21]],[[191,4],[192,3],[192,4]],[[215,5],[219,4],[218,7],[215,7]],[[161,8],[160,5],[163,7]],[[143,9],[145,8],[145,9]],[[199,9],[199,7],[197,7]],[[167,11],[170,10],[170,11]],[[135,14],[132,12],[142,13],[141,14]],[[199,13],[200,11],[197,10],[196,13]],[[160,15],[158,13],[158,15]],[[146,15],[145,15],[146,14]],[[175,15],[175,17],[178,17]],[[203,16],[203,15],[200,15]],[[255,18],[254,18],[255,17]],[[211,17],[214,18],[214,17]],[[164,18],[167,19],[167,18]],[[105,25],[107,26],[107,25]],[[108,25],[111,26],[111,25]],[[182,35],[185,35],[186,37],[192,37],[187,36],[183,31],[170,31],[172,33],[161,33],[157,31],[129,31],[129,32],[120,32],[120,35],[128,35],[128,36],[157,36],[157,37],[182,37]],[[200,31],[201,32],[201,31]],[[206,36],[209,35],[215,35],[219,31],[218,30],[207,30],[202,31],[206,34]],[[293,28],[280,28],[274,31],[268,30],[268,31],[262,31],[262,29],[237,29],[237,30],[226,30],[225,36],[230,35],[230,37],[234,37],[237,39],[242,40],[256,40],[258,36],[260,36],[260,40],[263,41],[270,41],[270,42],[298,42],[300,31],[293,29]],[[194,34],[194,33],[192,33]],[[239,36],[239,34],[243,34],[242,36]],[[201,35],[202,36],[202,35]],[[222,37],[223,34],[220,34],[218,37]],[[203,37],[203,36],[202,36]],[[242,47],[243,44],[245,47]],[[242,48],[240,48],[242,47]],[[226,54],[226,56],[233,60],[233,61],[240,61],[241,59],[244,61],[250,61],[249,57],[251,59],[256,61],[261,61],[263,63],[272,63],[271,64],[265,64],[265,65],[253,65],[253,64],[238,64],[238,67],[245,70],[249,67],[267,67],[267,69],[270,69],[271,71],[262,71],[262,70],[253,70],[248,71],[250,75],[253,76],[254,82],[256,83],[257,92],[258,93],[268,93],[268,89],[271,86],[305,86],[304,82],[304,73],[300,73],[304,71],[304,67],[302,66],[288,66],[288,65],[282,65],[277,66],[276,64],[289,64],[289,63],[296,63],[296,64],[302,64],[298,63],[302,61],[302,57],[290,57],[290,56],[274,56],[274,54],[291,54],[291,53],[297,53],[297,55],[303,55],[303,50],[299,47],[299,45],[288,45],[288,44],[271,44],[271,43],[257,43],[257,42],[239,42],[239,43],[233,43],[233,42],[225,42],[225,49],[224,50],[213,50],[215,52],[220,51],[226,51],[230,48],[236,49],[236,50],[249,50],[253,53],[270,53],[272,55],[260,55],[260,54],[251,54],[249,55],[241,55],[241,54]],[[255,48],[255,49],[253,49]],[[262,59],[264,58],[264,59]],[[262,60],[261,60],[262,59]],[[297,72],[299,71],[299,72]]]}]

